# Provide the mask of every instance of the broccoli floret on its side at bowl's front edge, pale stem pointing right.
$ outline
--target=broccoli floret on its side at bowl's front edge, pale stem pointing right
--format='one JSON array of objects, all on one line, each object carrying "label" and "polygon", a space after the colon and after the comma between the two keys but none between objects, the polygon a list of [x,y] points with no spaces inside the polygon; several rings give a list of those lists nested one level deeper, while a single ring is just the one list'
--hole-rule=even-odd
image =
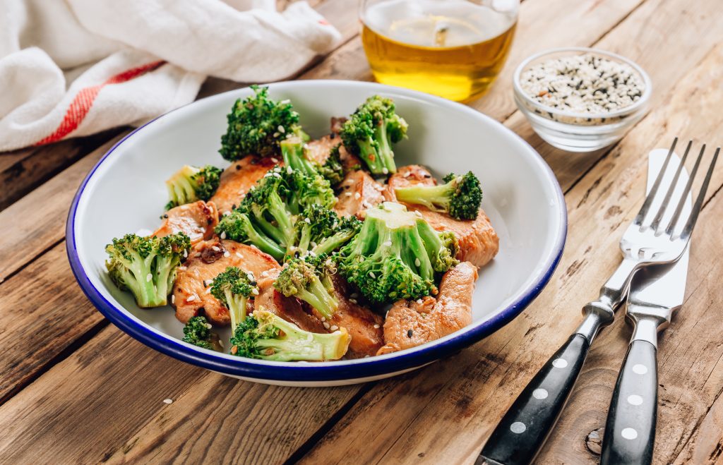
[{"label": "broccoli floret on its side at bowl's front edge, pale stem pointing right", "polygon": [[312,333],[273,313],[255,310],[236,327],[231,355],[275,362],[339,360],[350,341],[345,328],[330,334]]}]

